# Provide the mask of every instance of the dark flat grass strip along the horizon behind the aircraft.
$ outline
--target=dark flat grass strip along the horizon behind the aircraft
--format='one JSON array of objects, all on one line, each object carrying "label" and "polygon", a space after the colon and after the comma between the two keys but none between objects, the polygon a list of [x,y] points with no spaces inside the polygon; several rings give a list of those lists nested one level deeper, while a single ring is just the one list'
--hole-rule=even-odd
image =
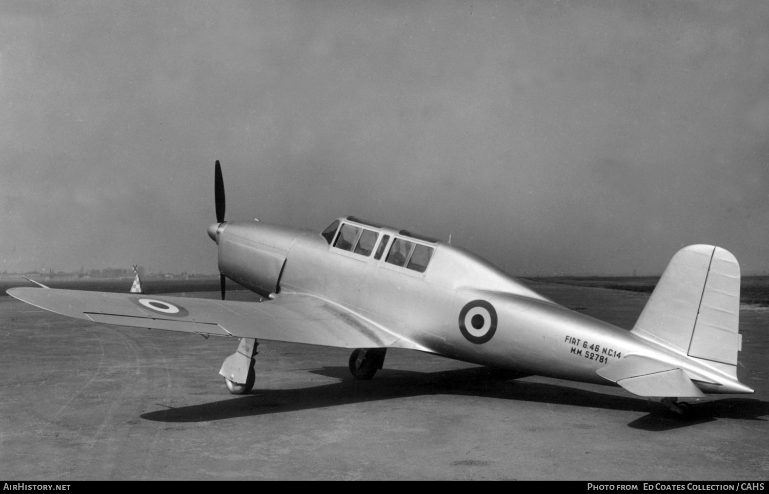
[{"label": "dark flat grass strip along the horizon behind the aircraft", "polygon": [[[657,285],[659,277],[529,277],[521,278],[524,283],[532,280],[539,283],[559,283],[575,287],[609,288],[611,290],[627,290],[640,293],[651,293]],[[126,292],[131,290],[133,278],[99,280],[67,280],[44,282],[52,288],[67,290],[93,290],[103,292]],[[195,278],[192,280],[143,280],[141,284],[145,293],[191,293],[211,292],[219,290],[218,277]],[[26,280],[0,281],[0,296],[5,296],[5,290],[12,287],[30,287],[32,283]],[[243,290],[234,281],[227,281],[228,290]],[[740,288],[740,303],[769,307],[769,276],[742,277]]]}]

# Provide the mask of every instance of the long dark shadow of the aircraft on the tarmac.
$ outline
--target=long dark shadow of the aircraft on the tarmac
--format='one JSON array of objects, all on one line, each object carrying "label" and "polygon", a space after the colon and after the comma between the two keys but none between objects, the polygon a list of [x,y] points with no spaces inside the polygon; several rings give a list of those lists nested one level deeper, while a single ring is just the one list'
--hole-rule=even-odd
[{"label": "long dark shadow of the aircraft on the tarmac", "polygon": [[171,423],[207,422],[428,395],[482,396],[500,400],[647,412],[646,416],[634,420],[628,426],[649,431],[677,429],[711,422],[717,418],[763,420],[759,417],[769,414],[769,402],[726,398],[694,404],[694,418],[681,419],[661,403],[651,400],[596,393],[557,384],[518,381],[516,379],[524,375],[489,367],[434,373],[383,369],[370,381],[354,379],[346,366],[325,366],[310,372],[334,377],[340,381],[294,390],[255,389],[248,395],[233,396],[227,400],[143,413],[141,418]]}]

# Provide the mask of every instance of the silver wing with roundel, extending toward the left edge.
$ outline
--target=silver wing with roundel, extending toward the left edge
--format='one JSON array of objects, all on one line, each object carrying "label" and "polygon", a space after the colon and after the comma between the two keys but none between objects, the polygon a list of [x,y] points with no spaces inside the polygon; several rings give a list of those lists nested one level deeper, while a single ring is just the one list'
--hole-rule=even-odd
[{"label": "silver wing with roundel, extending toward the left edge", "polygon": [[424,350],[364,317],[318,297],[281,294],[265,302],[11,288],[36,307],[96,323],[340,348]]}]

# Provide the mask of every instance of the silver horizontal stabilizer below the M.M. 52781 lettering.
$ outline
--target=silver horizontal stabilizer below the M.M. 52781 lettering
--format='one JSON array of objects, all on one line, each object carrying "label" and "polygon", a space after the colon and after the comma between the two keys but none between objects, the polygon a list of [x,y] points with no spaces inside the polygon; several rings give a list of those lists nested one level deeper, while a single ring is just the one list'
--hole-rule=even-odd
[{"label": "silver horizontal stabilizer below the M.M. 52781 lettering", "polygon": [[638,396],[704,396],[683,370],[645,356],[626,356],[596,373]]}]

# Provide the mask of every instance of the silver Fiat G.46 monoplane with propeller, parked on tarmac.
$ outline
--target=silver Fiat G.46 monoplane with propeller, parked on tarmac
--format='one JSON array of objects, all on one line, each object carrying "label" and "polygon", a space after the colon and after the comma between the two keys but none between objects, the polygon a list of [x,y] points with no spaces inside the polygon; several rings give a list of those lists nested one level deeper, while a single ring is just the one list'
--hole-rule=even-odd
[{"label": "silver Fiat G.46 monoplane with propeller, parked on tarmac", "polygon": [[[318,232],[225,221],[215,166],[222,300],[12,288],[42,309],[96,323],[240,338],[221,366],[231,393],[255,382],[257,339],[355,349],[353,376],[371,379],[388,348],[658,396],[753,393],[737,380],[740,267],[727,250],[674,255],[631,331],[568,310],[454,245],[341,217]],[[225,277],[267,297],[224,300]]]}]

